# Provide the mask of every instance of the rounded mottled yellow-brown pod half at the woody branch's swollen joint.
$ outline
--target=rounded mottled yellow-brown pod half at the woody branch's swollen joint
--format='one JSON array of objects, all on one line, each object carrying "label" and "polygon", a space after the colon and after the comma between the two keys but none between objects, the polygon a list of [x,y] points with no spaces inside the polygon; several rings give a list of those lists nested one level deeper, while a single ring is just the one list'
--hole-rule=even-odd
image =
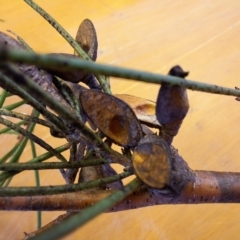
[{"label": "rounded mottled yellow-brown pod half at the woody branch's swollen joint", "polygon": [[146,135],[134,149],[133,168],[149,187],[170,185],[172,160],[167,143],[159,136]]}]

